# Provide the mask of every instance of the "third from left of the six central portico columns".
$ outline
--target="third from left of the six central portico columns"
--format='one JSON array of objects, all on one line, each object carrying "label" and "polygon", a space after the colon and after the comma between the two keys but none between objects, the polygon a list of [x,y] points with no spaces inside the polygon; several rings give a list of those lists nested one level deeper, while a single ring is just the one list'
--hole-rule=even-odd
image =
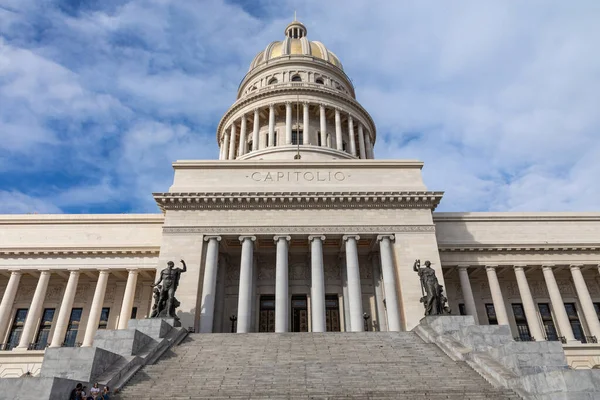
[{"label": "third from left of the six central portico columns", "polygon": [[289,236],[275,236],[275,332],[287,332],[289,324],[288,301],[288,242]]}]

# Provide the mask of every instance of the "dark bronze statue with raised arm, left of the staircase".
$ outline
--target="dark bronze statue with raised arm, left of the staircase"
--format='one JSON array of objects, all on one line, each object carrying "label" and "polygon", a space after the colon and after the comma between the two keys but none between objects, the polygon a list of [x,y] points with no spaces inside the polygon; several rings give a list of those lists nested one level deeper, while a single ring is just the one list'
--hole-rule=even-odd
[{"label": "dark bronze statue with raised arm, left of the staircase", "polygon": [[[160,271],[160,279],[154,287],[154,305],[152,306],[152,314],[150,318],[175,318],[179,319],[175,314],[175,309],[180,303],[175,298],[175,291],[179,286],[181,274],[187,271],[185,261],[181,260],[183,268],[173,268],[175,263],[169,261],[167,268]],[[162,285],[160,283],[162,282]]]}]

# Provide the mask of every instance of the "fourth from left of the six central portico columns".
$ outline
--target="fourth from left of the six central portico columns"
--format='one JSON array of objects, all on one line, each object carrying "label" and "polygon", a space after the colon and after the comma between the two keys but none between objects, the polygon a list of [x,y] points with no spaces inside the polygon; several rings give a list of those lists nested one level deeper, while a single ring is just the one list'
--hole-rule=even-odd
[{"label": "fourth from left of the six central portico columns", "polygon": [[323,240],[325,236],[311,235],[310,242],[310,306],[312,331],[325,332],[325,273],[323,272]]}]

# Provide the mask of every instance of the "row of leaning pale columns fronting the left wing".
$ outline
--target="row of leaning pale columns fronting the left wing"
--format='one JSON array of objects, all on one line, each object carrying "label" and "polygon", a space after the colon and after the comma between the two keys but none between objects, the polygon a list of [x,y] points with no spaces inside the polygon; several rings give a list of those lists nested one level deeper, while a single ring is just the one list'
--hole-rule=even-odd
[{"label": "row of leaning pale columns fronting the left wing", "polygon": [[[60,303],[58,317],[54,321],[54,333],[50,339],[50,347],[61,347],[63,345],[71,317],[71,310],[73,308],[73,303],[75,302],[75,294],[77,292],[77,285],[79,283],[81,272],[82,271],[79,269],[69,270],[69,277]],[[98,269],[96,272],[98,273],[98,280],[94,289],[94,296],[89,310],[82,346],[91,346],[94,335],[98,330],[102,308],[104,307],[104,297],[106,294],[108,278],[111,273],[109,269]],[[2,338],[7,335],[7,330],[11,322],[10,318],[13,305],[23,273],[23,270],[11,271],[8,285],[2,296],[2,301],[0,302],[0,335],[2,335]],[[53,271],[51,270],[39,271],[39,278],[33,294],[33,299],[31,300],[31,304],[27,311],[27,318],[25,319],[19,344],[15,347],[15,350],[27,350],[35,340],[40,324],[40,318],[44,310],[44,300],[46,298],[46,292],[52,273]],[[137,268],[128,269],[125,294],[123,296],[117,329],[127,328],[127,323],[133,309],[138,273],[139,269]]]}]

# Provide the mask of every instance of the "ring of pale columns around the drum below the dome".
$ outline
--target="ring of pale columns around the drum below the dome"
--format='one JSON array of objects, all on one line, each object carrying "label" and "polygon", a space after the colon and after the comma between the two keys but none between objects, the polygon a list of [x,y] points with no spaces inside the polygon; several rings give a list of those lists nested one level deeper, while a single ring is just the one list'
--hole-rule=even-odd
[{"label": "ring of pale columns around the drum below the dome", "polygon": [[[252,132],[248,132],[248,119],[247,114],[242,115],[239,120],[234,120],[228,127],[225,128],[222,134],[222,141],[220,143],[221,152],[219,155],[220,160],[234,160],[240,156],[243,156],[249,152],[263,150],[273,146],[286,146],[293,143],[293,129],[292,129],[292,106],[296,103],[286,102],[285,103],[285,137],[283,140],[275,141],[275,108],[277,104],[269,105],[269,117],[268,117],[268,131],[265,135],[260,134],[260,110],[254,109],[253,115],[253,128]],[[319,135],[320,139],[315,142],[311,141],[311,135],[309,134],[310,127],[310,107],[318,106],[319,110]],[[327,132],[327,110],[329,106],[325,104],[311,104],[309,102],[302,102],[302,145],[314,145],[318,146],[320,142],[321,147],[335,148],[339,151],[346,151],[347,153],[361,158],[361,159],[373,159],[373,141],[371,139],[370,132],[363,126],[362,122],[358,119],[355,121],[351,114],[347,115],[347,127],[344,129],[342,124],[343,112],[339,108],[335,108],[335,146],[333,141],[328,140]],[[238,122],[239,121],[239,122]],[[299,122],[298,122],[299,123]],[[239,134],[238,134],[239,124]],[[355,129],[356,125],[356,129]],[[251,135],[250,137],[248,135]],[[315,135],[316,137],[316,135]],[[249,140],[251,139],[251,140]],[[348,148],[344,149],[345,139],[348,143]],[[249,142],[251,141],[251,145]],[[357,146],[358,144],[358,146]]]}]

